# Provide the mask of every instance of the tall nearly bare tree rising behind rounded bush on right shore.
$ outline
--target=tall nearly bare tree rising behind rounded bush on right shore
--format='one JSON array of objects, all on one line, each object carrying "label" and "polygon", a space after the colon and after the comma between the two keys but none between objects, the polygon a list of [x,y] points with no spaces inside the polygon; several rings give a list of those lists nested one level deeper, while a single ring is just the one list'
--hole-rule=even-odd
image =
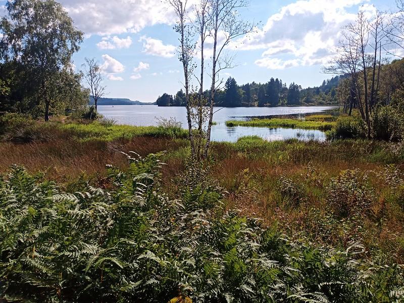
[{"label": "tall nearly bare tree rising behind rounded bush on right shore", "polygon": [[385,39],[383,14],[377,12],[374,19],[368,20],[360,11],[356,21],[344,28],[342,36],[337,48],[338,55],[324,71],[349,79],[349,114],[355,105],[366,123],[367,136],[370,138],[371,113],[378,99],[381,50]]}]

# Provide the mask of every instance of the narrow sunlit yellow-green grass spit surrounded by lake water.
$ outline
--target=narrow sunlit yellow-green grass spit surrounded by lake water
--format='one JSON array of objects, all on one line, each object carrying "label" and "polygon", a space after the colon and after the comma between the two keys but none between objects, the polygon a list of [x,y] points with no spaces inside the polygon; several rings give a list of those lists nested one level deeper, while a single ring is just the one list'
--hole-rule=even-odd
[{"label": "narrow sunlit yellow-green grass spit surrounded by lake water", "polygon": [[254,126],[254,127],[272,127],[272,128],[301,128],[301,129],[319,129],[319,130],[330,130],[335,123],[327,121],[311,121],[311,120],[298,120],[298,119],[287,119],[287,118],[273,118],[273,119],[252,119],[250,121],[236,121],[230,120],[226,121],[226,125],[232,126]]}]

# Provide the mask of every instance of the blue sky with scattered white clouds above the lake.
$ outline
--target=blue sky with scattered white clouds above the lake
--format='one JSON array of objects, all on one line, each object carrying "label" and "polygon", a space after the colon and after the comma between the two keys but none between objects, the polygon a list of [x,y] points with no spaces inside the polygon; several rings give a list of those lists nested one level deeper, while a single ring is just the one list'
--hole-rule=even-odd
[{"label": "blue sky with scattered white clouds above the lake", "polygon": [[[76,69],[82,69],[84,58],[95,58],[107,97],[155,102],[164,92],[175,94],[182,88],[179,42],[173,30],[176,17],[165,0],[59,2],[85,33],[80,51],[73,56]],[[0,6],[5,4],[0,0]],[[354,20],[360,9],[369,15],[376,9],[394,11],[395,0],[250,0],[239,13],[259,28],[227,47],[236,67],[220,77],[234,77],[238,84],[264,83],[273,77],[304,88],[318,86],[330,78],[322,67],[333,56],[341,27]]]}]

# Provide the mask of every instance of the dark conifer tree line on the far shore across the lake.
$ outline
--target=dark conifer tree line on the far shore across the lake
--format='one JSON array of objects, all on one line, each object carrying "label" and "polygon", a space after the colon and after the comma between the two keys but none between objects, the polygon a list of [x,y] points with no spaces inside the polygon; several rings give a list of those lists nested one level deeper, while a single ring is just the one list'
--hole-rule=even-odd
[{"label": "dark conifer tree line on the far shore across the lake", "polygon": [[[336,105],[339,76],[324,80],[320,86],[302,89],[296,83],[287,85],[278,78],[267,83],[251,82],[238,85],[229,77],[223,89],[215,92],[215,104],[219,107],[274,107],[279,105]],[[209,97],[210,90],[204,91]],[[197,93],[191,94],[196,98]],[[185,93],[180,89],[175,95],[164,93],[157,98],[158,106],[186,106]]]}]

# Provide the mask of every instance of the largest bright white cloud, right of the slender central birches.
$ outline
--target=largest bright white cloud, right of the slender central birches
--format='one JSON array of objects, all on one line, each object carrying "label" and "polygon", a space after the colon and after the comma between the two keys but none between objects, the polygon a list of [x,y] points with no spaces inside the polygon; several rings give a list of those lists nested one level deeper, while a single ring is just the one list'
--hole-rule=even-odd
[{"label": "largest bright white cloud, right of the slender central birches", "polygon": [[[348,8],[364,4],[369,16],[375,12],[369,0],[299,0],[268,18],[263,29],[232,42],[230,49],[265,49],[255,63],[269,69],[298,65],[324,65],[335,54],[341,27],[356,18]],[[280,58],[283,59],[280,59]]]}]

